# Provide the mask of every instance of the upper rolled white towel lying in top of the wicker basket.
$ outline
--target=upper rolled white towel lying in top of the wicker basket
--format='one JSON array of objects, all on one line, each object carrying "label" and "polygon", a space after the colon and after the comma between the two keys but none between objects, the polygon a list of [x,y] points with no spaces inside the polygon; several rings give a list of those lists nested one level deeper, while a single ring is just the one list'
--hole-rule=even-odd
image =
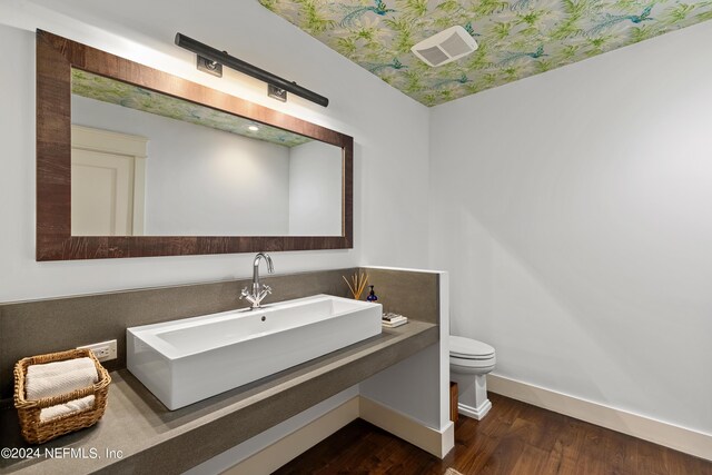
[{"label": "upper rolled white towel lying in top of the wicker basket", "polygon": [[91,358],[30,365],[24,375],[24,393],[28,400],[60,396],[83,389],[99,380]]}]

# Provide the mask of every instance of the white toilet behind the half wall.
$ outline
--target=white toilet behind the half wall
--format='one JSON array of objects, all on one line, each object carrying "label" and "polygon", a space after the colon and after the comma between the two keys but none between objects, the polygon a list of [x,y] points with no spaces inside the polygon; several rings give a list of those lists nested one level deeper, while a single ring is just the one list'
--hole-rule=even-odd
[{"label": "white toilet behind the half wall", "polygon": [[482,419],[492,408],[487,399],[487,373],[494,369],[494,348],[462,336],[449,337],[451,380],[457,383],[457,410]]}]

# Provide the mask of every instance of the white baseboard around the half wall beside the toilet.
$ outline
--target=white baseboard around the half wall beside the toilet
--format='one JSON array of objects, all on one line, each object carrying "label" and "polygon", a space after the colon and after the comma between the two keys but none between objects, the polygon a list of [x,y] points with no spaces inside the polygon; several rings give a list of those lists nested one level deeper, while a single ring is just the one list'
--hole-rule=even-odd
[{"label": "white baseboard around the half wall beside the toilet", "polygon": [[363,396],[359,397],[358,413],[362,419],[409,442],[438,458],[447,455],[455,442],[455,425],[452,422],[441,433],[390,407]]}]

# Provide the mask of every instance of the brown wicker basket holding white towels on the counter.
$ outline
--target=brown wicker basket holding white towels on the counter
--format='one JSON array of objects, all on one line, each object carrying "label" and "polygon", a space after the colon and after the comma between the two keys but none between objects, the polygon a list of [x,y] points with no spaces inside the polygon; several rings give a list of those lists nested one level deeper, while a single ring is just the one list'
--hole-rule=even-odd
[{"label": "brown wicker basket holding white towels on the counter", "polygon": [[[24,375],[28,366],[83,357],[91,358],[97,367],[99,380],[95,385],[60,396],[36,400],[24,398]],[[30,444],[42,444],[60,435],[95,425],[103,416],[103,410],[107,407],[109,383],[111,383],[109,373],[89,349],[70,349],[20,359],[14,365],[14,407],[18,409],[22,437]],[[91,395],[95,397],[93,407],[40,422],[40,412],[43,408]]]}]

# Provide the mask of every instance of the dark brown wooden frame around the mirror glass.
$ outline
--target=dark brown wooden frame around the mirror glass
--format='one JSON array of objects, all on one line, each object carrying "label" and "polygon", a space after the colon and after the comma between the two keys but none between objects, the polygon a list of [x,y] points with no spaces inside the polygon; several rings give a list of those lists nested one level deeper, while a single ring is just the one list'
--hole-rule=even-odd
[{"label": "dark brown wooden frame around the mirror glass", "polygon": [[[71,236],[71,69],[78,68],[335,145],[340,236]],[[354,139],[98,49],[37,30],[37,260],[353,248]]]}]

